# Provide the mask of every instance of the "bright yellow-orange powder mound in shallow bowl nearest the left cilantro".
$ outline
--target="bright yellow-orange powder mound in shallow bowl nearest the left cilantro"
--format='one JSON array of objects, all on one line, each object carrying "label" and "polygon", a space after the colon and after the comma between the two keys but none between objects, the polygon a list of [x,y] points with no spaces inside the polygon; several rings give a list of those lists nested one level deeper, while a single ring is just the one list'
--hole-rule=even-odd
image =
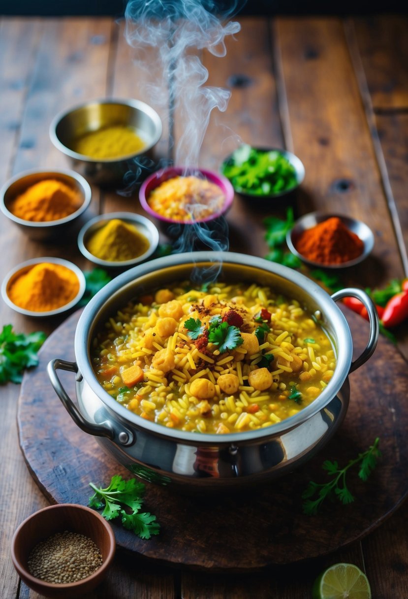
[{"label": "bright yellow-orange powder mound in shallow bowl nearest the left cilantro", "polygon": [[7,295],[25,310],[48,312],[68,304],[78,294],[77,275],[62,264],[41,262],[11,280]]}]

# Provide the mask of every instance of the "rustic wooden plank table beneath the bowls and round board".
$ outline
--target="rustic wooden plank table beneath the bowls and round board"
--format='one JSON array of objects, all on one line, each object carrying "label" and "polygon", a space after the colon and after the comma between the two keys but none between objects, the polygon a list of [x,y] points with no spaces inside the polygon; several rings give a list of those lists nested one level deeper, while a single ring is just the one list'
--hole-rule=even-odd
[{"label": "rustic wooden plank table beneath the bowls and round board", "polygon": [[[364,220],[374,231],[372,258],[342,275],[344,282],[381,287],[407,276],[408,20],[245,17],[240,22],[242,31],[227,40],[225,58],[202,55],[208,84],[230,87],[232,98],[225,113],[212,114],[200,166],[217,169],[227,153],[224,139],[235,134],[247,143],[293,150],[306,167],[297,214],[339,211]],[[48,137],[51,119],[63,108],[103,96],[146,99],[132,53],[123,24],[112,19],[1,19],[0,183],[28,168],[67,166]],[[265,255],[262,219],[280,216],[284,208],[257,207],[238,196],[228,216],[231,249]],[[135,196],[96,187],[92,210],[141,212]],[[91,267],[75,239],[45,246],[28,240],[4,217],[0,227],[1,278],[34,256],[60,256]],[[0,311],[0,322],[12,322],[16,331],[42,328],[49,334],[62,322],[25,318],[3,303]],[[407,333],[406,323],[397,330],[405,356]],[[10,540],[17,525],[47,502],[19,449],[19,386],[10,383],[1,395],[0,596],[34,599],[38,595],[14,571]],[[118,552],[106,584],[90,597],[306,599],[316,574],[345,561],[366,571],[374,598],[402,599],[408,588],[406,518],[404,504],[345,549],[256,576],[173,570]]]}]

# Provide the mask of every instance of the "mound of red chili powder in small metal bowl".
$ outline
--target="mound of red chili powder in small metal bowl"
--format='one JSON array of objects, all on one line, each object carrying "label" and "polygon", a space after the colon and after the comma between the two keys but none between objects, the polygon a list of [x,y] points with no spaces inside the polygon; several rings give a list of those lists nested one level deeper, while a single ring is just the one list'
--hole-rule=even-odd
[{"label": "mound of red chili powder in small metal bowl", "polygon": [[364,243],[336,216],[303,231],[297,238],[297,251],[313,262],[342,264],[358,258]]}]

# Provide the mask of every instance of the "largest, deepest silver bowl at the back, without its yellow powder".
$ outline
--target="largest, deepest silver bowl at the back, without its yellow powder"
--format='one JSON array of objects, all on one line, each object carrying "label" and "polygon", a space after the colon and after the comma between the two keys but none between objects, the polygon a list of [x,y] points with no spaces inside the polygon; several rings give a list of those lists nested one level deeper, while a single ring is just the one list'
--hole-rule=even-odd
[{"label": "largest, deepest silver bowl at the back, without its yellow powder", "polygon": [[[136,129],[145,146],[121,158],[94,159],[75,152],[75,141],[91,131],[106,126],[127,125]],[[120,183],[128,171],[138,177],[140,169],[148,172],[154,163],[153,149],[162,135],[162,121],[148,104],[136,99],[102,98],[65,110],[53,119],[50,138],[54,146],[71,161],[72,167],[98,185]],[[148,162],[146,162],[148,159]]]}]

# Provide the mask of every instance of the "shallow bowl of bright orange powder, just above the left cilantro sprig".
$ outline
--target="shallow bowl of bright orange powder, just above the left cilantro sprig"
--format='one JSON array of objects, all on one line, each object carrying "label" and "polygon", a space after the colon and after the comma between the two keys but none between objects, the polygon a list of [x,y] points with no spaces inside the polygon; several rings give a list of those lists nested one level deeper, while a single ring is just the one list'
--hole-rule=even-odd
[{"label": "shallow bowl of bright orange powder, just above the left cilantro sprig", "polygon": [[5,277],[2,298],[25,316],[46,317],[73,308],[85,291],[83,272],[61,258],[34,258],[17,265]]}]

